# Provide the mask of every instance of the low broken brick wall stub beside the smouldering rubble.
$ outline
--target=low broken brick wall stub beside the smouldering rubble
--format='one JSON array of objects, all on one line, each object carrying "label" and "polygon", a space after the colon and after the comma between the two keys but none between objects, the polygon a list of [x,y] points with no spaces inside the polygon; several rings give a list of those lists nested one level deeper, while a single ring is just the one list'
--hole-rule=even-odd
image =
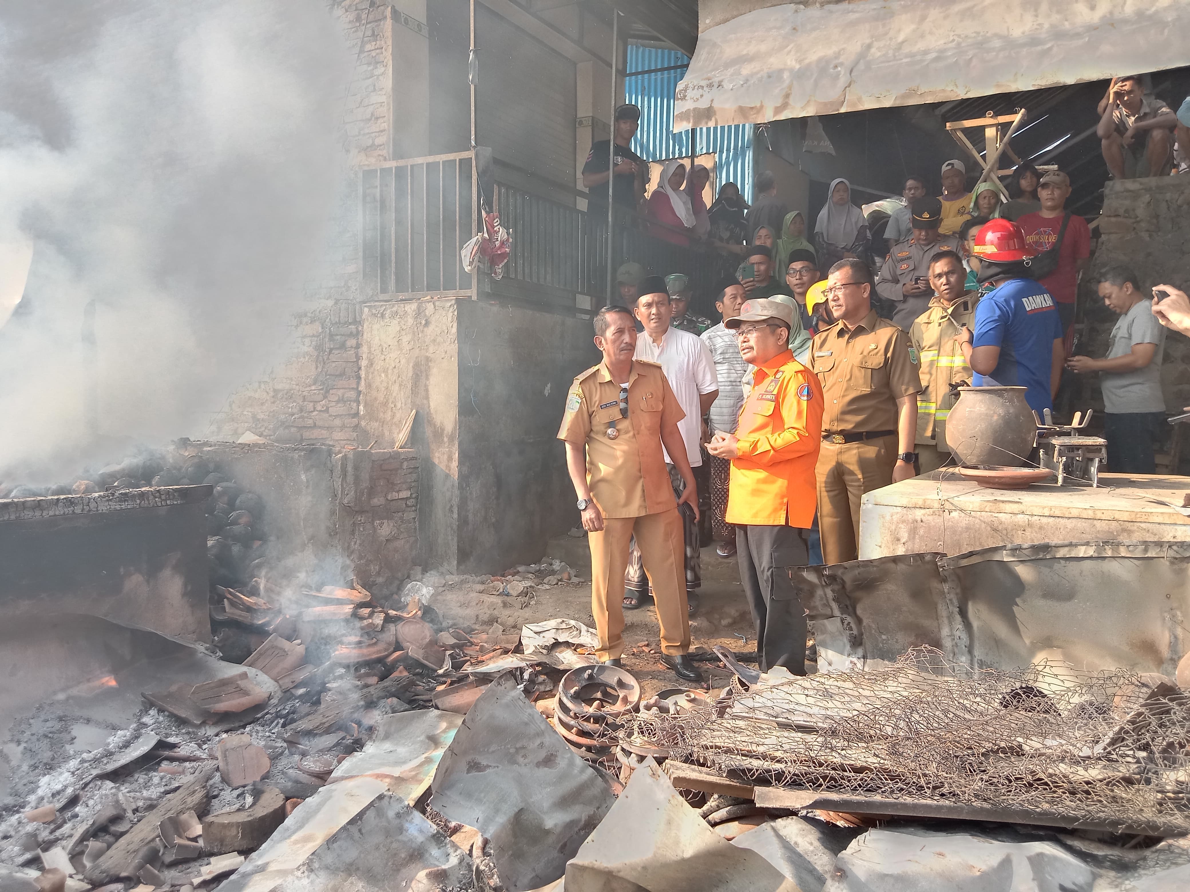
[{"label": "low broken brick wall stub beside the smouldering rubble", "polygon": [[334,475],[343,554],[363,585],[390,589],[418,554],[418,453],[349,450]]}]

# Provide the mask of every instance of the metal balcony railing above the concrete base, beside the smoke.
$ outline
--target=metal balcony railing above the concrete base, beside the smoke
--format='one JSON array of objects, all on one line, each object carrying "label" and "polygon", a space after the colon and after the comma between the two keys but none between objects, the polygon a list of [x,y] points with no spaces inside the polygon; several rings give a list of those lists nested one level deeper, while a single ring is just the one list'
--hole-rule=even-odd
[{"label": "metal balcony railing above the concrete base, beside the smoke", "polygon": [[[471,155],[440,155],[364,168],[363,276],[378,295],[469,293],[471,277],[463,270],[459,251],[478,231],[472,213]],[[481,276],[481,289],[496,297],[528,300],[574,310],[576,295],[584,303],[602,306],[607,295],[607,214],[596,207],[580,211],[571,196],[584,196],[571,187],[543,183],[530,191],[496,162],[494,205],[500,221],[512,233],[512,253],[502,279]],[[520,171],[527,174],[528,171]],[[539,181],[540,182],[540,181]],[[618,212],[619,213],[619,212]],[[614,265],[635,260],[665,275],[685,272],[696,291],[709,290],[716,259],[649,235],[643,221],[618,216]]]}]

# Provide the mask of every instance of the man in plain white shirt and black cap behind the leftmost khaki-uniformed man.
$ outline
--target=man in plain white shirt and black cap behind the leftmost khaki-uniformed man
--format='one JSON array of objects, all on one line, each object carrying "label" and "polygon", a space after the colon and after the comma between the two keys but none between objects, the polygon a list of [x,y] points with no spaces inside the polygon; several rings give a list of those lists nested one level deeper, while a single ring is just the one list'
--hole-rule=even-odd
[{"label": "man in plain white shirt and black cap behind the leftmost khaki-uniformed man", "polygon": [[[662,366],[678,406],[685,412],[685,417],[677,423],[677,427],[685,444],[690,467],[701,467],[702,419],[719,396],[719,377],[715,373],[715,363],[710,358],[710,350],[697,335],[670,327],[674,313],[670,307],[669,289],[660,276],[649,276],[640,283],[640,296],[633,312],[645,327],[644,335],[637,338],[637,353],[633,358],[658,363]],[[669,453],[665,454],[665,464],[670,469],[674,492],[681,496],[685,484]],[[699,523],[694,511],[685,505],[682,508],[682,533],[685,540],[687,597],[690,613],[694,613],[697,601],[693,592],[702,585]],[[639,608],[650,589],[635,542],[628,558],[624,585],[624,607],[628,610]]]}]

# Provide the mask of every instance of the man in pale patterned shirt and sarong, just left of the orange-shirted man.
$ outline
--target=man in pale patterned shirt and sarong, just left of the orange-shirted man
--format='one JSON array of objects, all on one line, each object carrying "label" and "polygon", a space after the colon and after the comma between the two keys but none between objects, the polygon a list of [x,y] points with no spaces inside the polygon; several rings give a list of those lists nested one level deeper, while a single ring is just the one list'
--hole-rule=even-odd
[{"label": "man in pale patterned shirt and sarong, just left of the orange-shirted man", "polygon": [[[734,434],[735,423],[739,421],[740,407],[744,406],[744,376],[749,371],[749,364],[740,356],[739,341],[735,332],[728,331],[726,322],[740,314],[740,307],[747,299],[744,285],[733,276],[715,285],[715,309],[724,318],[722,321],[712,326],[699,337],[702,343],[710,348],[710,358],[715,363],[715,372],[719,376],[719,396],[710,404],[707,413],[708,433],[714,436],[716,433]],[[729,558],[735,553],[735,526],[728,523],[725,517],[727,513],[727,483],[732,471],[731,459],[710,459],[710,523],[719,540],[715,552],[720,558]]]}]

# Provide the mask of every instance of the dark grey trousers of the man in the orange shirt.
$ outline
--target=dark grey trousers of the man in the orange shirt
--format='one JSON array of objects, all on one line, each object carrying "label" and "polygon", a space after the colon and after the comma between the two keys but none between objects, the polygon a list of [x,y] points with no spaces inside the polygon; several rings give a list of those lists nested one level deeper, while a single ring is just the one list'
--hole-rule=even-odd
[{"label": "dark grey trousers of the man in the orange shirt", "polygon": [[809,563],[804,535],[795,527],[735,527],[740,583],[756,624],[762,672],[784,666],[806,674],[806,611],[785,572]]}]

